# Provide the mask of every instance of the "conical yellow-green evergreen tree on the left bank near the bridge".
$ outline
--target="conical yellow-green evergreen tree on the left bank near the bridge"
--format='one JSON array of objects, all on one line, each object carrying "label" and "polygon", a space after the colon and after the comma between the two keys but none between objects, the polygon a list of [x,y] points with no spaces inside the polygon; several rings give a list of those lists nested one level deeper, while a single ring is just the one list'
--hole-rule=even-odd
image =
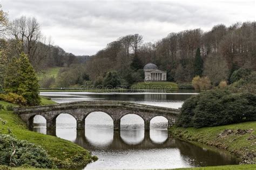
[{"label": "conical yellow-green evergreen tree on the left bank near the bridge", "polygon": [[36,72],[24,52],[18,59],[13,59],[9,64],[6,72],[5,90],[23,96],[29,106],[40,104]]}]

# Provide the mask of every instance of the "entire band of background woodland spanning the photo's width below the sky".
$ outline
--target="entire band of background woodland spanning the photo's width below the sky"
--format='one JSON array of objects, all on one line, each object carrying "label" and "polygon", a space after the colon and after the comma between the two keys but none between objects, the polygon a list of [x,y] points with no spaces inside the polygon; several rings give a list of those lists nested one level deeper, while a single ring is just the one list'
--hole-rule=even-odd
[{"label": "entire band of background woodland spanning the photo's width below the sky", "polygon": [[46,86],[104,85],[109,75],[115,75],[120,85],[129,86],[144,80],[143,66],[147,63],[166,70],[167,81],[186,83],[200,76],[208,77],[213,86],[230,82],[232,73],[239,68],[256,70],[255,22],[219,24],[210,31],[171,32],[154,43],[144,42],[139,34],[126,35],[93,56],[75,56],[53,46],[42,35],[35,18],[22,16],[9,22],[6,13],[1,13],[0,71],[21,52],[28,55],[36,72],[65,67],[56,79],[42,83]]}]

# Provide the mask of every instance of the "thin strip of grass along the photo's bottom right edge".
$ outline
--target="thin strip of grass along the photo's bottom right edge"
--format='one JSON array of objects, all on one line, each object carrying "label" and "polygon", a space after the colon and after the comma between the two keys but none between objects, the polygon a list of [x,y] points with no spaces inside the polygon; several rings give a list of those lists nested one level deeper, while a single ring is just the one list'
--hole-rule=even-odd
[{"label": "thin strip of grass along the photo's bottom right edge", "polygon": [[177,170],[234,170],[234,169],[256,169],[256,165],[225,165],[225,166],[208,166],[198,168],[178,168]]}]

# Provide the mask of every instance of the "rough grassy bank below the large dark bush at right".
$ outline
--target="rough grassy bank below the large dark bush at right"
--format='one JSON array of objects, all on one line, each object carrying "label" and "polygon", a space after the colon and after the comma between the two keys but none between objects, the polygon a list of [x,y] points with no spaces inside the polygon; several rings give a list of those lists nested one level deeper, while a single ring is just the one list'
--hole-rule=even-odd
[{"label": "rough grassy bank below the large dark bush at right", "polygon": [[[252,132],[244,134],[244,131],[238,130]],[[173,126],[169,131],[186,141],[225,149],[240,157],[244,164],[256,164],[256,121],[203,128]]]}]

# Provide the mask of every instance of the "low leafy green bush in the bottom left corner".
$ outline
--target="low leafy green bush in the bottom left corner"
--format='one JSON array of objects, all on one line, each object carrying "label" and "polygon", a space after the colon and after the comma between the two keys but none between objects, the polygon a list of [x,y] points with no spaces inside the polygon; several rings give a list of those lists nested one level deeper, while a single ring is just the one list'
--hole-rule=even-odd
[{"label": "low leafy green bush in the bottom left corner", "polygon": [[0,165],[56,168],[46,151],[25,140],[0,134]]}]

